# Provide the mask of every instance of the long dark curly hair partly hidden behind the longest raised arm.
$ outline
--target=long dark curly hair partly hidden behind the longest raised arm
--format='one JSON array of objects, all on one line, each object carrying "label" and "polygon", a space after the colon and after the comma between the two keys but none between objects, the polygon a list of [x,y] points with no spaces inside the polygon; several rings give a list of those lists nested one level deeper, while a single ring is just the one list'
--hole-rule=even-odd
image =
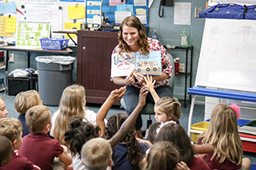
[{"label": "long dark curly hair partly hidden behind the longest raised arm", "polygon": [[[106,128],[104,128],[104,137],[106,140],[110,140],[111,137],[118,132],[127,117],[128,115],[125,113],[118,113],[109,118]],[[124,141],[127,144],[127,158],[130,161],[131,167],[134,170],[141,169],[140,161],[142,160],[142,151],[138,140],[135,138],[135,128],[131,128],[121,141]]]}]

